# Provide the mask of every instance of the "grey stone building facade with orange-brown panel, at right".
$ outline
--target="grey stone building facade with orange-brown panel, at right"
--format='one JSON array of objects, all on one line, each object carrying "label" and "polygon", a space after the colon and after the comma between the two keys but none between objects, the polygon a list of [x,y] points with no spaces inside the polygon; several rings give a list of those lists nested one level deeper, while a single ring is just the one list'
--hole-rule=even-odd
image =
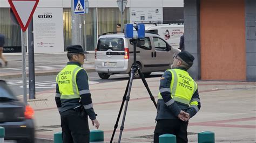
[{"label": "grey stone building facade with orange-brown panel, at right", "polygon": [[256,1],[184,0],[184,26],[194,78],[256,81]]}]

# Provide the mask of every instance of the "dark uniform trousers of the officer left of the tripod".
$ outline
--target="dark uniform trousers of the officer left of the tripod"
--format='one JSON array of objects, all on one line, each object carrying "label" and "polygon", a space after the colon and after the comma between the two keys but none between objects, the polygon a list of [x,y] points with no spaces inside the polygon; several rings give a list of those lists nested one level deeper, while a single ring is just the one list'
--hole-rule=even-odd
[{"label": "dark uniform trousers of the officer left of the tripod", "polygon": [[80,108],[60,113],[63,143],[90,142],[90,130],[87,115]]}]

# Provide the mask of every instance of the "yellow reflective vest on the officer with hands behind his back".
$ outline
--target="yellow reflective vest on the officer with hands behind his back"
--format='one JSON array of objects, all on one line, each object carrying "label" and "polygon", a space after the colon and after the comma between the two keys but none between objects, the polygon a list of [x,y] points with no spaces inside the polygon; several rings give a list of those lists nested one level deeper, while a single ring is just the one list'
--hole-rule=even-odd
[{"label": "yellow reflective vest on the officer with hands behind his back", "polygon": [[[197,84],[188,75],[187,71],[181,69],[168,69],[172,74],[170,85],[171,97],[174,101],[190,105],[191,98],[197,89]],[[158,99],[162,99],[159,92]],[[192,103],[195,105],[195,103]]]}]

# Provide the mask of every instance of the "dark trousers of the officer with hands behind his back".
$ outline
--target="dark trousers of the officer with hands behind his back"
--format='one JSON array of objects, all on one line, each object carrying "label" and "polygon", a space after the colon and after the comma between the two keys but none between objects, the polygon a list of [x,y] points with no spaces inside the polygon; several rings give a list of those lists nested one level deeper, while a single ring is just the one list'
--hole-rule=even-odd
[{"label": "dark trousers of the officer with hands behind his back", "polygon": [[157,120],[157,125],[154,129],[154,143],[159,142],[159,135],[166,133],[176,135],[177,143],[187,143],[187,125],[188,121],[180,119]]}]

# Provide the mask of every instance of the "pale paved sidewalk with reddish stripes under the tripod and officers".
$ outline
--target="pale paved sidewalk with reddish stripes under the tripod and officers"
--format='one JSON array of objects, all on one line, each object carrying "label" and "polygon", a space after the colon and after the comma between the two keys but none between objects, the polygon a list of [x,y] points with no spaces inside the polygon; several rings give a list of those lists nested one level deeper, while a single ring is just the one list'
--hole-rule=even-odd
[{"label": "pale paved sidewalk with reddish stripes under the tripod and officers", "polygon": [[[146,78],[153,95],[158,94],[159,77]],[[256,82],[198,81],[201,110],[190,120],[188,141],[197,142],[197,133],[212,131],[215,142],[256,141]],[[98,114],[100,130],[109,142],[122,103],[127,81],[91,84],[93,108]],[[134,80],[125,118],[122,142],[152,142],[156,125],[156,109],[141,80]],[[37,92],[28,101],[35,109],[37,142],[52,142],[61,131],[60,116],[55,104],[55,90]],[[155,96],[157,98],[157,96]],[[157,100],[157,99],[156,99]],[[114,141],[118,141],[119,120]],[[90,129],[93,130],[91,121]]]}]

